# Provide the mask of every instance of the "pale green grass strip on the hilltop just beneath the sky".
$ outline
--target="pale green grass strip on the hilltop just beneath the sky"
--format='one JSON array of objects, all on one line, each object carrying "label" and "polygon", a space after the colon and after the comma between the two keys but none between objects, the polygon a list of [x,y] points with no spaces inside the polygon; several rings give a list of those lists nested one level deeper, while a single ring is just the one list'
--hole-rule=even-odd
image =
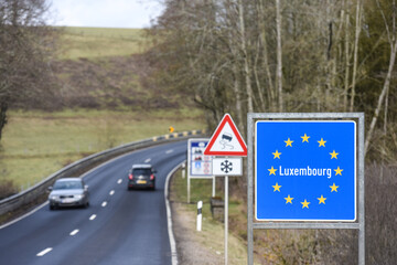
[{"label": "pale green grass strip on the hilltop just beneath the sky", "polygon": [[148,50],[148,41],[141,29],[111,29],[111,28],[60,28],[61,60],[77,60],[127,56],[142,53]]}]

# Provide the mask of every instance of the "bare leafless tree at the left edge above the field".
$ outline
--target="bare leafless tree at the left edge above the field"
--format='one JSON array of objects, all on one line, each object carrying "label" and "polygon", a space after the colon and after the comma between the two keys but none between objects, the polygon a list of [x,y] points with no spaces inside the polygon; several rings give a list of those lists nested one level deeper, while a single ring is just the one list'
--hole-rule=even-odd
[{"label": "bare leafless tree at the left edge above the field", "polygon": [[0,139],[9,107],[46,86],[51,52],[45,0],[0,1]]}]

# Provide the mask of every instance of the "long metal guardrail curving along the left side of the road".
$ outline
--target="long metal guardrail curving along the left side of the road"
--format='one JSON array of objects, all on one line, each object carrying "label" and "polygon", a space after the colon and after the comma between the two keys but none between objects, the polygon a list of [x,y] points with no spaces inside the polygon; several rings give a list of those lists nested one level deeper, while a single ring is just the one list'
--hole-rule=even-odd
[{"label": "long metal guardrail curving along the left side of the road", "polygon": [[56,171],[55,173],[49,176],[46,179],[42,180],[41,182],[36,183],[35,186],[31,187],[28,190],[21,191],[18,194],[12,197],[6,198],[0,201],[0,215],[15,211],[17,209],[26,205],[29,203],[34,202],[46,192],[47,188],[52,186],[55,180],[74,176],[76,173],[81,173],[82,171],[87,171],[94,165],[104,162],[109,160],[110,158],[120,156],[126,152],[130,152],[137,149],[160,145],[163,142],[176,141],[181,139],[187,139],[191,137],[200,137],[205,134],[205,130],[191,130],[191,131],[183,131],[183,132],[174,132],[163,136],[157,136],[144,140],[132,141],[122,146],[118,146],[111,149],[107,149],[101,152],[97,152],[85,157],[81,160],[77,160],[65,168]]}]

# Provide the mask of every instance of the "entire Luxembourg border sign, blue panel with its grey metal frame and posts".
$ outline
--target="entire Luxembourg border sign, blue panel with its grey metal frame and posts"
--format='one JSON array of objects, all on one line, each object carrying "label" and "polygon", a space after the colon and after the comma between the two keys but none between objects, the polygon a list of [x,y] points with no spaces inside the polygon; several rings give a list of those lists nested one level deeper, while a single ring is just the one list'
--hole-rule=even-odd
[{"label": "entire Luxembourg border sign, blue panel with its grey metal frame and posts", "polygon": [[248,114],[247,121],[248,264],[256,229],[353,229],[364,265],[364,114]]}]

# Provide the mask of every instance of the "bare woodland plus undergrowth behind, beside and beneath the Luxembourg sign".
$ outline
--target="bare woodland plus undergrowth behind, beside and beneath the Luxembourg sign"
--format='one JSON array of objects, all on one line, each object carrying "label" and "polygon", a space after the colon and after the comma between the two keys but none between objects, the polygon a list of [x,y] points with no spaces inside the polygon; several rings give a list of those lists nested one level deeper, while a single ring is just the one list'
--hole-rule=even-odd
[{"label": "bare woodland plus undergrowth behind, beside and beneath the Luxembourg sign", "polygon": [[[225,113],[243,134],[247,113],[365,113],[368,264],[397,259],[396,12],[395,0],[169,0],[150,30],[158,85],[189,93],[212,128]],[[246,178],[230,189],[244,198]],[[356,231],[254,237],[261,264],[357,262]]]}]

